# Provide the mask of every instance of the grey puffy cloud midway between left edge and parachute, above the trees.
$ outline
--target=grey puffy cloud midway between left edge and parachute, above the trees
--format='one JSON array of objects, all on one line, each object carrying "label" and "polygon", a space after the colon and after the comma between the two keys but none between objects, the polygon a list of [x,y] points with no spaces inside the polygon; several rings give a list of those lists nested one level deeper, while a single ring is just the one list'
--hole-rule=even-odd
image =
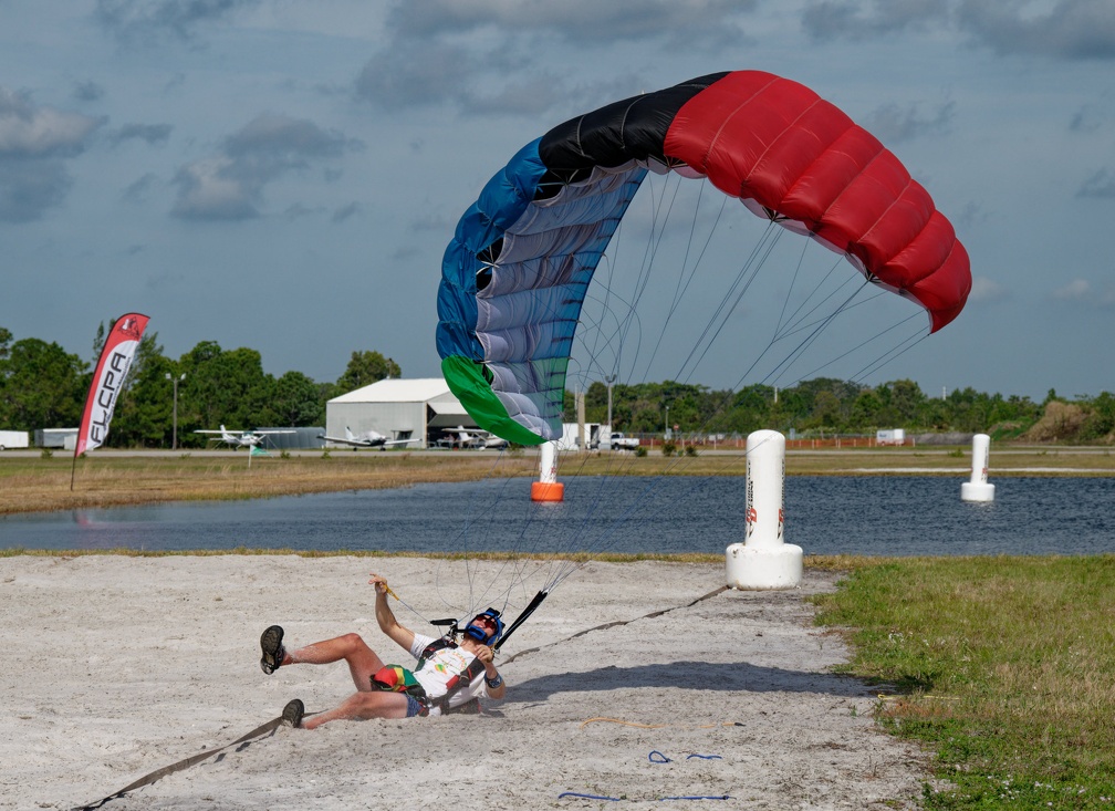
[{"label": "grey puffy cloud midway between left edge and parachute, above the trees", "polygon": [[217,154],[178,170],[174,177],[178,195],[172,214],[185,220],[259,216],[263,191],[272,181],[309,168],[314,161],[362,148],[360,142],[302,118],[259,115],[225,138]]}]

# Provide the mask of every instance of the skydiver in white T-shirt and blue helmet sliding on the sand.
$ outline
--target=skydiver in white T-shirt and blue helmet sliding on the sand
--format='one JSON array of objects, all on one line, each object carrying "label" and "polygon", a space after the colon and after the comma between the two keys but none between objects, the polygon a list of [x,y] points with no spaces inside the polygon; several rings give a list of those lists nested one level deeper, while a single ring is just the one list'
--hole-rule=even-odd
[{"label": "skydiver in white T-shirt and blue helmet sliding on the sand", "polygon": [[371,573],[368,581],[376,588],[376,621],[384,634],[418,659],[414,670],[388,665],[359,634],[346,634],[288,650],[283,646],[283,629],[273,625],[260,637],[263,657],[260,667],[272,674],[280,667],[295,664],[327,665],[343,659],[357,692],[334,708],[303,721],[306,706],[294,698],[283,708],[282,717],[291,726],[312,730],[321,724],[345,718],[409,718],[416,715],[440,715],[467,712],[478,698],[501,699],[507,687],[493,663],[492,647],[503,634],[500,612],[489,608],[468,620],[459,643],[450,638],[416,634],[399,625],[387,605],[387,581]]}]

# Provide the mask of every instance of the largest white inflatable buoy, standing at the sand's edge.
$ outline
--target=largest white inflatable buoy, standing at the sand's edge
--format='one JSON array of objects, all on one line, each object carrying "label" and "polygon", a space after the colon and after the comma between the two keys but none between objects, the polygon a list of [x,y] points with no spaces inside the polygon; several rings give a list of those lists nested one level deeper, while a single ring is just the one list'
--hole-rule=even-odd
[{"label": "largest white inflatable buoy, standing at the sand's edge", "polygon": [[734,589],[792,589],[801,585],[802,548],[783,539],[786,437],[756,431],[747,437],[747,531],[725,550]]}]

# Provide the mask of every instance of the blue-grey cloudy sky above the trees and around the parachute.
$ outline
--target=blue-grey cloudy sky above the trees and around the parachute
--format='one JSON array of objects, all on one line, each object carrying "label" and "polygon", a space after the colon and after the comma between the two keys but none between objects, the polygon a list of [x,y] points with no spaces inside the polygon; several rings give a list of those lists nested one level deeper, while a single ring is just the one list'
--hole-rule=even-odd
[{"label": "blue-grey cloudy sky above the trees and around the parachute", "polygon": [[[138,311],[173,358],[436,376],[442,255],[484,183],[574,115],[735,69],[871,131],[971,257],[960,317],[855,379],[1115,390],[1115,0],[0,0],[0,327],[91,361]],[[655,336],[622,382],[682,379],[690,348]],[[689,382],[773,379],[710,360]]]}]

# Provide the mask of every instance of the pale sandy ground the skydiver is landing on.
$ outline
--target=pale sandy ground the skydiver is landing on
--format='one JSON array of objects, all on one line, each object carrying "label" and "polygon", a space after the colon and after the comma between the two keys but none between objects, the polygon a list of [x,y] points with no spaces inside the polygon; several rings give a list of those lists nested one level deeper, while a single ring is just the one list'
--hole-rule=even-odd
[{"label": "pale sandy ground the skydiver is landing on", "polygon": [[[0,559],[0,809],[94,804],[292,697],[314,712],[352,692],[343,664],[264,676],[269,624],[294,643],[357,630],[407,663],[376,626],[370,569],[427,618],[466,580],[401,558]],[[846,650],[811,624],[803,597],[833,576],[694,604],[723,581],[590,563],[501,651],[507,698],[484,715],[281,727],[104,808],[913,808],[924,756],[875,728],[878,688],[831,675]]]}]

